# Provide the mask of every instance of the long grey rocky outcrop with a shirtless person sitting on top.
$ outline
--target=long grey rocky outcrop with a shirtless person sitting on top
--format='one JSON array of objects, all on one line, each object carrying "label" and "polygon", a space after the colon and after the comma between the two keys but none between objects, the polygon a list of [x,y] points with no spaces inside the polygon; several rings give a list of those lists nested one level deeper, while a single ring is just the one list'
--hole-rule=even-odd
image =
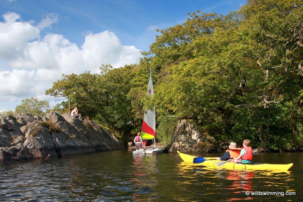
[{"label": "long grey rocky outcrop with a shirtless person sitting on top", "polygon": [[51,112],[0,117],[0,162],[63,157],[125,148],[114,134],[94,121]]}]

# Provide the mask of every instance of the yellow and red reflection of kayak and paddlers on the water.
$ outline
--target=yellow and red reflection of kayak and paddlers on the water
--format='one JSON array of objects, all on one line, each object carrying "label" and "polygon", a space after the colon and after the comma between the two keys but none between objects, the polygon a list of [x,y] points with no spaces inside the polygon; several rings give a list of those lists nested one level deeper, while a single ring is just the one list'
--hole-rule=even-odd
[{"label": "yellow and red reflection of kayak and paddlers on the water", "polygon": [[294,176],[290,171],[228,170],[181,162],[178,164],[178,175],[183,179],[179,182],[179,187],[190,190],[195,197],[205,200],[218,198],[215,195],[228,201],[272,199],[277,196],[252,196],[245,192],[295,191],[291,189]]}]

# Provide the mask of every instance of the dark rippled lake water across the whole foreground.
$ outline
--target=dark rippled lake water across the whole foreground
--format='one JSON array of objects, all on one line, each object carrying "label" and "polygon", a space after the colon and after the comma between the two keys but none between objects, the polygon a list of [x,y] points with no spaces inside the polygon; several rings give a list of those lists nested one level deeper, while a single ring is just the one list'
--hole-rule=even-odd
[{"label": "dark rippled lake water across the whole foreground", "polygon": [[294,166],[281,173],[210,169],[178,154],[126,149],[12,162],[0,164],[0,201],[301,201],[303,153],[259,153],[254,161]]}]

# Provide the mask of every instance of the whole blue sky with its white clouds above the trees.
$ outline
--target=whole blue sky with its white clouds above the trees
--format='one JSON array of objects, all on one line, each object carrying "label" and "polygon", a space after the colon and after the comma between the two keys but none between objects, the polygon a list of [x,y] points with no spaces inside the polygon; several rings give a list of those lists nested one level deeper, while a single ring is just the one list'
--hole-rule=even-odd
[{"label": "whole blue sky with its white clouds above the trees", "polygon": [[0,0],[0,111],[44,94],[64,74],[98,73],[101,64],[137,63],[155,30],[185,22],[186,12],[238,10],[244,0]]}]

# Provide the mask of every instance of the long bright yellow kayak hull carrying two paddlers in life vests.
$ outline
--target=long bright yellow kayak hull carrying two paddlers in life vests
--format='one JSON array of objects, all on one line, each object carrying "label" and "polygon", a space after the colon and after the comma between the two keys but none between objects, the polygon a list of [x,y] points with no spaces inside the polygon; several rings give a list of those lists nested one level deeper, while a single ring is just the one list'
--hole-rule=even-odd
[{"label": "long bright yellow kayak hull carrying two paddlers in life vests", "polygon": [[[196,156],[191,156],[188,154],[183,154],[180,151],[177,151],[179,156],[185,162],[193,163],[193,160]],[[203,163],[199,163],[199,165],[209,166],[218,168],[215,164],[219,162],[219,160],[207,160]],[[235,164],[233,162],[225,163],[221,168],[226,169],[245,169],[245,170],[278,170],[278,171],[287,171],[293,164]]]}]

